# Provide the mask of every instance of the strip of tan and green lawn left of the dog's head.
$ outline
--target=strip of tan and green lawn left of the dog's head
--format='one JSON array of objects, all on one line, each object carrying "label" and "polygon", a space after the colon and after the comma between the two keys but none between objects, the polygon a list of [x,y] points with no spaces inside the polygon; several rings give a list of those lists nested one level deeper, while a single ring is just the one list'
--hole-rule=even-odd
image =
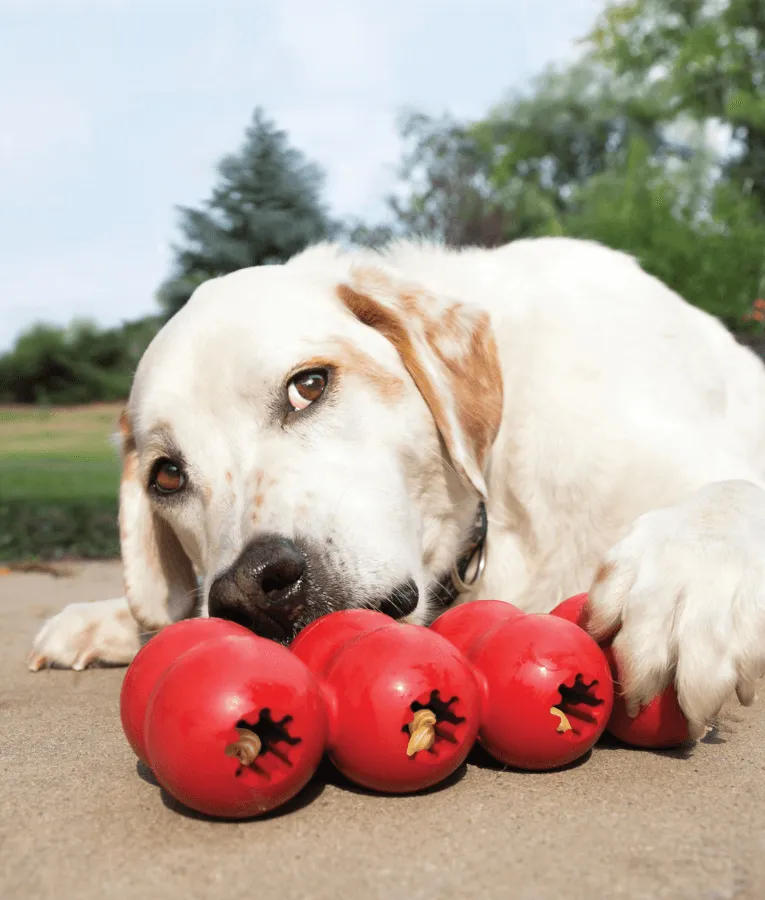
[{"label": "strip of tan and green lawn left of the dog's head", "polygon": [[0,560],[118,553],[118,415],[0,408]]}]

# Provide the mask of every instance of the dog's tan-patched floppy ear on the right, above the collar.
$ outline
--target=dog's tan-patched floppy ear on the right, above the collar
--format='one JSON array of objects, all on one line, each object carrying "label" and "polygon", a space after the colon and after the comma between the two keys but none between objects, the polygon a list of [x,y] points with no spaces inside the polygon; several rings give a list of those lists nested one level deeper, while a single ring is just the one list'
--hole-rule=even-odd
[{"label": "dog's tan-patched floppy ear on the right, above the collar", "polygon": [[337,294],[394,345],[454,468],[486,499],[484,472],[502,418],[502,372],[488,314],[376,267],[353,269]]}]

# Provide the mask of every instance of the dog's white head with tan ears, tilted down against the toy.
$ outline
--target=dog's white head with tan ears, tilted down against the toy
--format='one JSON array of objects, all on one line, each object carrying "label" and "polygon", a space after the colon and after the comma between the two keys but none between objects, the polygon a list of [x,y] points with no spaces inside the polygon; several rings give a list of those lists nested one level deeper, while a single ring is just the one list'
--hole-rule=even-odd
[{"label": "dog's white head with tan ears, tilted down against the toy", "polygon": [[367,606],[422,622],[470,533],[502,386],[488,317],[377,264],[200,287],[138,367],[120,533],[136,618],[289,640]]}]

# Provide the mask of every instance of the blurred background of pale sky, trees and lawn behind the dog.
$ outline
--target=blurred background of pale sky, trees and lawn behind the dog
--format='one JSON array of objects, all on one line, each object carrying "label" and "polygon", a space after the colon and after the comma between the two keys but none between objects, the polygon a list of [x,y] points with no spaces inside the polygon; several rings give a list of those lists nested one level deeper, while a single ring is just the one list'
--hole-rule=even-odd
[{"label": "blurred background of pale sky, trees and lawn behind the dog", "polygon": [[334,238],[634,254],[763,346],[763,0],[0,0],[0,560],[118,552],[195,286]]}]

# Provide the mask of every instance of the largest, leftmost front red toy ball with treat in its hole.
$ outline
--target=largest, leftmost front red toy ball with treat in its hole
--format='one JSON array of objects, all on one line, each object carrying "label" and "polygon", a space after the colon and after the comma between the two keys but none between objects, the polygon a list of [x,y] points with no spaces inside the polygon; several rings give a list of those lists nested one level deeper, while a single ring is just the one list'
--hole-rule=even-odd
[{"label": "largest, leftmost front red toy ball with treat in its hole", "polygon": [[162,676],[146,714],[157,781],[210,816],[249,818],[286,803],[321,760],[327,716],[310,671],[273,641],[221,637]]}]

